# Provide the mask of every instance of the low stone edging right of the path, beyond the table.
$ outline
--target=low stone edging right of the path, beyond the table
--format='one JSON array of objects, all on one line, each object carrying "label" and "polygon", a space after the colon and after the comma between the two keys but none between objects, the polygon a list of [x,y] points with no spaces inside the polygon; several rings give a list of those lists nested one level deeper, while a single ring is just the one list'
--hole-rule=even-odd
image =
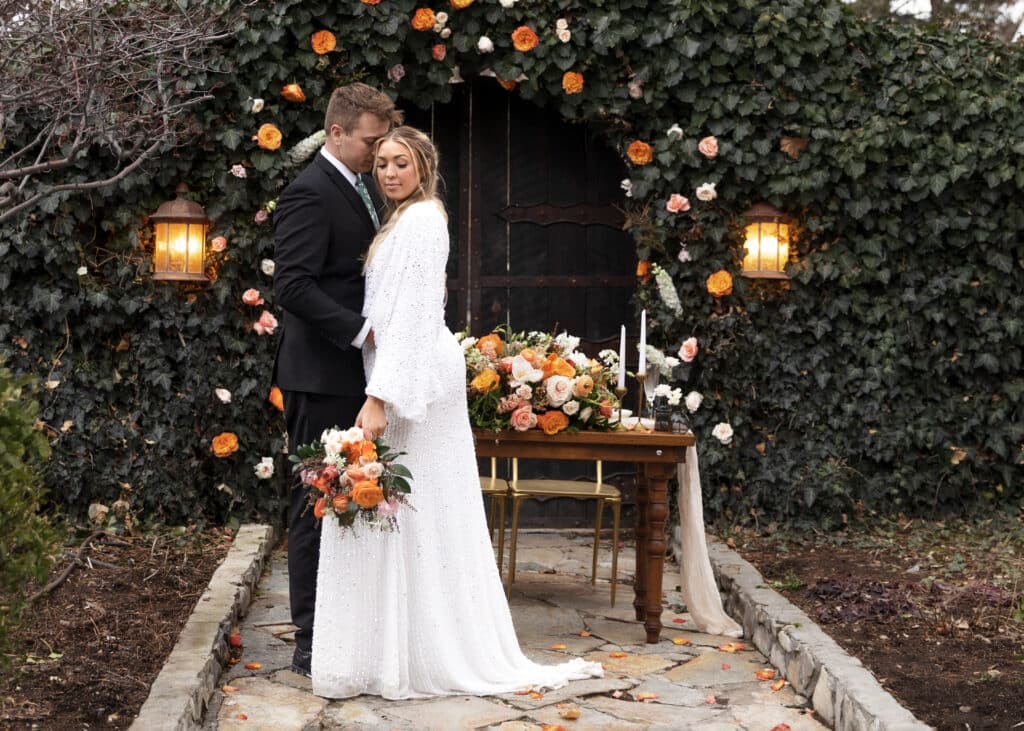
[{"label": "low stone edging right of the path, beyond the table", "polygon": [[782,671],[794,690],[836,731],[925,731],[874,676],[810,617],[770,589],[754,566],[717,541],[708,553],[725,609],[740,619],[743,636]]}]

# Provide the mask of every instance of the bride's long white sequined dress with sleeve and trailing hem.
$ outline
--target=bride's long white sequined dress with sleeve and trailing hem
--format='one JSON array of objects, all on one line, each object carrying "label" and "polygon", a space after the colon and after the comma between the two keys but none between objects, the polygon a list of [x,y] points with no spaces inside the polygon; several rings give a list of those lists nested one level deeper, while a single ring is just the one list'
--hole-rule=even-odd
[{"label": "bride's long white sequined dress with sleeve and trailing hem", "polygon": [[[367,393],[408,454],[415,511],[396,532],[341,531],[325,518],[316,577],[313,693],[385,698],[555,688],[601,675],[519,649],[498,574],[466,406],[462,348],[444,326],[447,225],[436,204],[401,215],[367,268]],[[346,425],[339,425],[346,426]]]}]

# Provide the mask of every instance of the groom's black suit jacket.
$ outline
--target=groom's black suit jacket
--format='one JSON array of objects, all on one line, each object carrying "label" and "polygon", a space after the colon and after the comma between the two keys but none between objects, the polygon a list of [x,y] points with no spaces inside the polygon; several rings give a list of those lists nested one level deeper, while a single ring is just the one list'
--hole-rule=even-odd
[{"label": "groom's black suit jacket", "polygon": [[273,225],[273,287],[285,310],[274,382],[288,391],[361,395],[362,355],[352,340],[365,321],[361,256],[376,232],[362,199],[317,153],[281,195]]}]

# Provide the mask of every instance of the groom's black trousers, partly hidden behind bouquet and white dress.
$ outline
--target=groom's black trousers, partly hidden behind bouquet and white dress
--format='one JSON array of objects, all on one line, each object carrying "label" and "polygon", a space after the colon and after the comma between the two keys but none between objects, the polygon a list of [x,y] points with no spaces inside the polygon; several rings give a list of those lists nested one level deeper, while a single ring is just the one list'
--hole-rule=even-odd
[{"label": "groom's black trousers, partly hidden behind bouquet and white dress", "polygon": [[[332,396],[325,393],[285,391],[285,423],[288,445],[294,454],[299,444],[319,439],[333,426],[347,429],[366,396]],[[305,485],[292,487],[288,513],[288,595],[292,606],[295,647],[308,652],[313,642],[313,610],[316,607],[316,567],[319,565],[319,523],[306,509]],[[343,577],[339,576],[339,579]]]}]

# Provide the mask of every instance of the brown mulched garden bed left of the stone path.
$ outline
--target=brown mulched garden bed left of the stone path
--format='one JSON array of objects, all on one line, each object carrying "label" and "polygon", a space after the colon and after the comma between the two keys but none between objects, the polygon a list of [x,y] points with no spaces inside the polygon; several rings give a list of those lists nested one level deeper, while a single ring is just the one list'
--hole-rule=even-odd
[{"label": "brown mulched garden bed left of the stone path", "polygon": [[229,546],[224,530],[69,546],[50,578],[81,563],[13,636],[0,728],[128,728]]}]

